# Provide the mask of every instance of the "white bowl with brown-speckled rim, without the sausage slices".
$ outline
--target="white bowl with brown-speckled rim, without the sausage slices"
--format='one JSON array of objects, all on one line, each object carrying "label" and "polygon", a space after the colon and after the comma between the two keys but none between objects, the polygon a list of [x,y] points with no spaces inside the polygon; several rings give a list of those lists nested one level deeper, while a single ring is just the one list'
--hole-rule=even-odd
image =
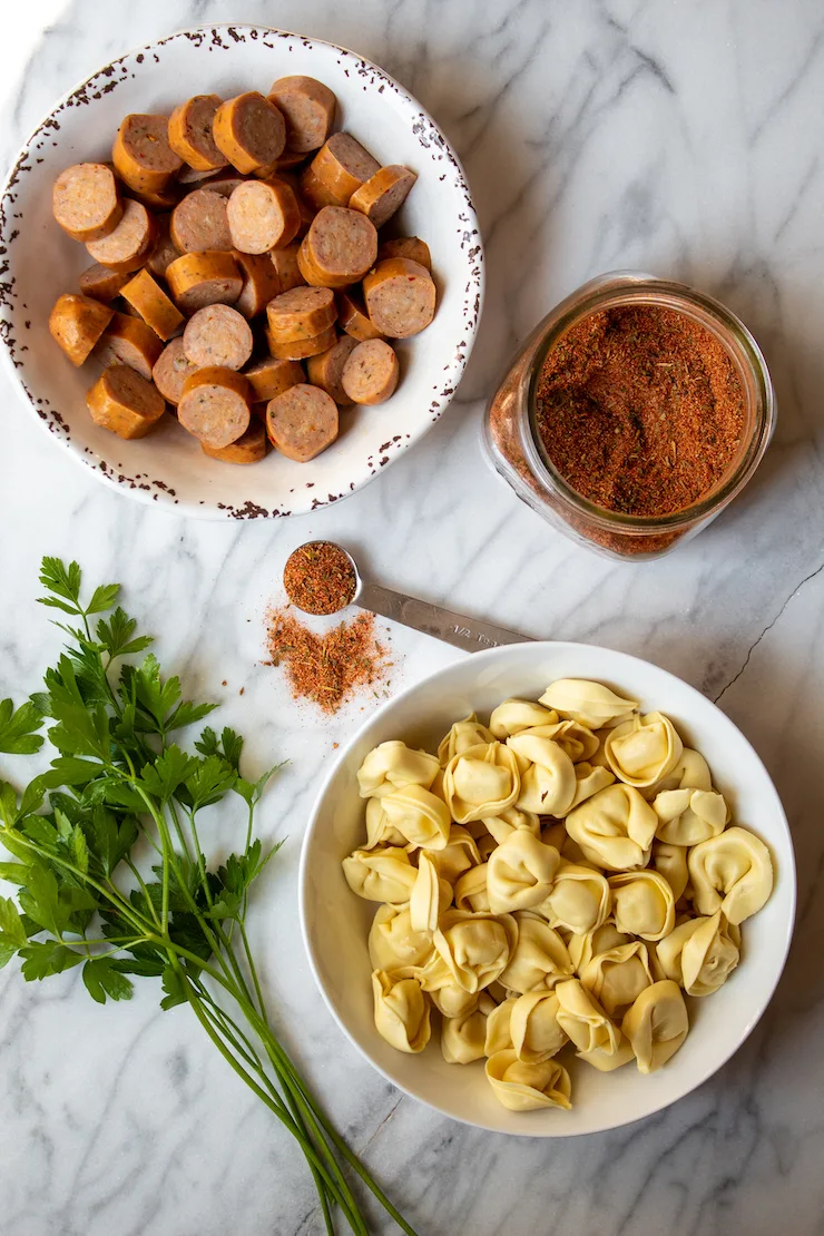
[{"label": "white bowl with brown-speckled rim, without the sausage slices", "polygon": [[[70,163],[109,159],[121,119],[164,112],[193,94],[231,98],[303,73],[338,101],[337,127],[382,163],[405,163],[418,183],[398,215],[399,235],[430,246],[440,304],[432,325],[399,346],[392,400],[342,414],[337,442],[310,464],[269,455],[237,467],[203,454],[173,418],[141,441],[121,441],[90,419],[96,377],[75,370],[48,332],[61,292],[90,263],[52,218],[52,184]],[[2,195],[1,349],[28,407],[72,456],[122,493],[201,518],[301,514],[347,497],[421,438],[444,413],[468,360],[483,300],[483,251],[455,151],[411,95],[377,66],[331,43],[258,26],[187,30],[130,52],[62,99],[33,132]]]}]

